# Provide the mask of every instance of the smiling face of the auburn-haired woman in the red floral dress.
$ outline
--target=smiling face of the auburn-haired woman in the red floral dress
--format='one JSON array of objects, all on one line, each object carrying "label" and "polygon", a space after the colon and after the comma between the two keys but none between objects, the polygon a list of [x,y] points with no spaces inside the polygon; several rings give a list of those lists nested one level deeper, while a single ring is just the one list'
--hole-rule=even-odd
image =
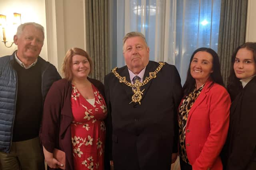
[{"label": "smiling face of the auburn-haired woman in the red floral dress", "polygon": [[90,63],[86,57],[74,55],[71,70],[73,79],[86,78],[90,73]]}]

